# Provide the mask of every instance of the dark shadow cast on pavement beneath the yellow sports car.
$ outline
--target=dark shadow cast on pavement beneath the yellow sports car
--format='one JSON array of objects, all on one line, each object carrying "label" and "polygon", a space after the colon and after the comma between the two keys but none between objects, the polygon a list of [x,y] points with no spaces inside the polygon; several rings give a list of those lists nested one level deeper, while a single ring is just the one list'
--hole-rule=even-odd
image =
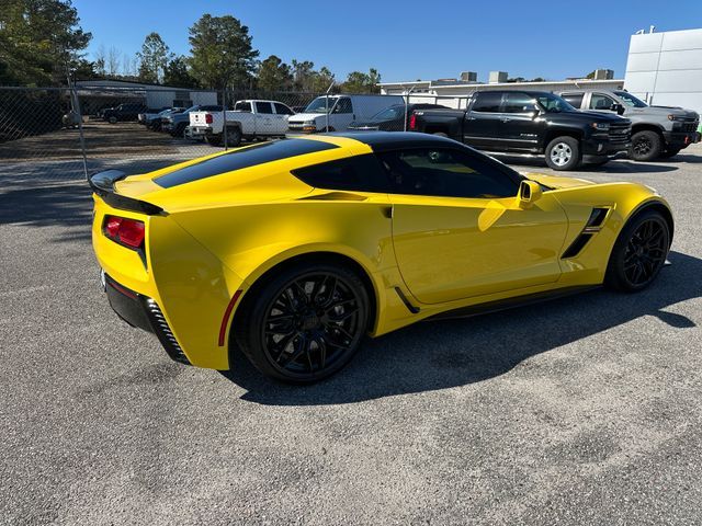
[{"label": "dark shadow cast on pavement beneath the yellow sports car", "polygon": [[[702,296],[702,260],[678,252],[656,283],[638,294],[604,289],[467,319],[417,323],[367,340],[351,364],[319,384],[296,387],[263,377],[240,354],[222,374],[270,405],[353,403],[487,380],[531,356],[643,316],[687,330],[693,320],[667,309]],[[622,345],[624,345],[622,343]]]}]

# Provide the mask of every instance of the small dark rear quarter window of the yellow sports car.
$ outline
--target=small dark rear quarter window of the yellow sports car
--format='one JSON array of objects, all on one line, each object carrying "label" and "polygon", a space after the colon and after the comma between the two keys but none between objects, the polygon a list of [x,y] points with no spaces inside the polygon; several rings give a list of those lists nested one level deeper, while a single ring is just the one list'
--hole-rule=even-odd
[{"label": "small dark rear quarter window of the yellow sports car", "polygon": [[387,173],[373,153],[294,170],[293,174],[315,188],[356,192],[389,191]]}]

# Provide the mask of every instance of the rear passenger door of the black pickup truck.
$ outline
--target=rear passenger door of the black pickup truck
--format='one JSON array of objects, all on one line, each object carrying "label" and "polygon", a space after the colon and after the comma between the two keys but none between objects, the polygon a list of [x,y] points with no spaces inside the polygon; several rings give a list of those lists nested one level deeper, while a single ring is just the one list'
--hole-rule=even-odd
[{"label": "rear passenger door of the black pickup truck", "polygon": [[475,94],[463,122],[463,141],[484,150],[500,150],[497,128],[500,122],[502,93],[482,91]]}]

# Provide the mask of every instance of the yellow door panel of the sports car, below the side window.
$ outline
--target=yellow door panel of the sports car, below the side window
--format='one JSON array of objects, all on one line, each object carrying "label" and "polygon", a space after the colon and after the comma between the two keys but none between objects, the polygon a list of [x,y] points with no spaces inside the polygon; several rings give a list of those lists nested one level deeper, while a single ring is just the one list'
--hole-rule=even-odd
[{"label": "yellow door panel of the sports car, below the side window", "polygon": [[411,294],[438,304],[553,283],[567,218],[545,193],[498,199],[392,195],[393,242]]}]

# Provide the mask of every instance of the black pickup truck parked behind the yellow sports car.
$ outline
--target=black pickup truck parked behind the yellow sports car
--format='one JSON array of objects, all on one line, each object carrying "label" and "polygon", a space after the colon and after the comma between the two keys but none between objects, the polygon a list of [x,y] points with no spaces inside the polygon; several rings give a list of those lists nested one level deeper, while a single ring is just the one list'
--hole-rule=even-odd
[{"label": "black pickup truck parked behind the yellow sports car", "polygon": [[466,110],[416,111],[409,129],[491,153],[544,156],[554,170],[575,170],[625,152],[632,123],[613,114],[580,112],[548,92],[478,91]]}]

